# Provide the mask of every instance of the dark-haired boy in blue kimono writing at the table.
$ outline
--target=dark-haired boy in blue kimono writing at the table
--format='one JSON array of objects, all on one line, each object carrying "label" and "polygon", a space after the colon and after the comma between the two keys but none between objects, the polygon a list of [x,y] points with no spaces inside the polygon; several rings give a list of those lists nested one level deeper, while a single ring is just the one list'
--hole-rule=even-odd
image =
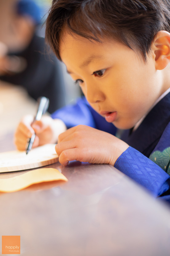
[{"label": "dark-haired boy in blue kimono writing at the table", "polygon": [[[18,149],[34,131],[34,147],[58,138],[61,164],[109,163],[153,195],[169,195],[168,17],[168,0],[53,0],[46,39],[88,103],[81,99],[32,127],[33,117],[25,117]],[[125,130],[121,139],[115,127]]]}]

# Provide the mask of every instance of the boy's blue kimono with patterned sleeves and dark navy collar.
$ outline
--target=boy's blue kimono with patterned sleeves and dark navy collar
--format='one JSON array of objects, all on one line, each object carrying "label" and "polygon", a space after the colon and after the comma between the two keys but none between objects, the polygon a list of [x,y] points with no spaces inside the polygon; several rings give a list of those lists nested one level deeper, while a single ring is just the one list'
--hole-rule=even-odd
[{"label": "boy's blue kimono with patterned sleeves and dark navy collar", "polygon": [[[85,98],[57,110],[52,118],[60,118],[67,128],[84,124],[113,135],[117,132]],[[154,196],[170,202],[170,93],[152,108],[135,131],[125,130],[121,139],[130,147],[114,166]]]}]

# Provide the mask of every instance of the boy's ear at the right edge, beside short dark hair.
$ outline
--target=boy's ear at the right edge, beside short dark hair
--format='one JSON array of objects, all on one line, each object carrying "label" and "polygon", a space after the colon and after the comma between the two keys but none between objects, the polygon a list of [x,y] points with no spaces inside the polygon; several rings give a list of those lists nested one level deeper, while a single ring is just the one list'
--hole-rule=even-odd
[{"label": "boy's ear at the right edge, beside short dark hair", "polygon": [[155,55],[156,69],[162,70],[166,68],[170,63],[170,33],[159,31],[151,48]]}]

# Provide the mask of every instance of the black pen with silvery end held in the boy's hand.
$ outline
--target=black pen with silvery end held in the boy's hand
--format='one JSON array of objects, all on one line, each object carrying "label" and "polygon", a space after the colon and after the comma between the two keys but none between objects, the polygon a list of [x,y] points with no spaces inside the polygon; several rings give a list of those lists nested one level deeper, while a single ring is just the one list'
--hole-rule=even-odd
[{"label": "black pen with silvery end held in the boy's hand", "polygon": [[[48,106],[49,106],[49,99],[46,97],[38,98],[38,101],[39,101],[39,105],[38,105],[37,114],[36,114],[36,117],[34,118],[32,124],[35,121],[39,121],[42,118],[42,115],[45,114],[45,112],[47,111]],[[31,150],[33,143],[34,143],[34,139],[35,139],[35,134],[33,134],[31,136],[31,138],[28,138],[28,142],[27,142],[27,146],[26,146],[26,155]]]}]

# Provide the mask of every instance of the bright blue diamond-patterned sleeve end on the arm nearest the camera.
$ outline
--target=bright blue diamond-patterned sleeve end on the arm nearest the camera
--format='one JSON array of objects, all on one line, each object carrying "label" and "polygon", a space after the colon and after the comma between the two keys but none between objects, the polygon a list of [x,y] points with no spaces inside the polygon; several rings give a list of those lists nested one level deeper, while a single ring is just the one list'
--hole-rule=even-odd
[{"label": "bright blue diamond-patterned sleeve end on the arm nearest the camera", "polygon": [[154,196],[160,196],[170,189],[170,176],[132,147],[121,154],[114,167],[147,188]]}]

